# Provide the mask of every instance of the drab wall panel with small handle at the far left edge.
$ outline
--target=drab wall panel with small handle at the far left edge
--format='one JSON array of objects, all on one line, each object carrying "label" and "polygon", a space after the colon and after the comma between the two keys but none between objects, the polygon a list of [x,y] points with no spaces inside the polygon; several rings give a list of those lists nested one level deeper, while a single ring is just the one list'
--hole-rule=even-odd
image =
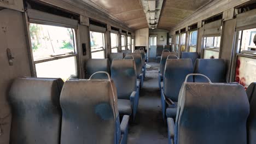
[{"label": "drab wall panel with small handle at the far left edge", "polygon": [[[4,9],[0,11],[0,19],[0,144],[7,144],[11,125],[9,88],[16,77],[31,76],[31,70],[22,13]],[[9,65],[7,48],[13,54],[13,65]]]}]

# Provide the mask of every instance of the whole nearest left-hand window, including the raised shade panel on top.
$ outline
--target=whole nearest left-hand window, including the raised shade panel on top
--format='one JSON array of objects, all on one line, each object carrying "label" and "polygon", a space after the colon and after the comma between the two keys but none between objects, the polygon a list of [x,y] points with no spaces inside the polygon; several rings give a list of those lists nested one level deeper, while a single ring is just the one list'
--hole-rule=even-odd
[{"label": "whole nearest left-hand window, including the raised shade panel on top", "polygon": [[78,21],[33,9],[28,17],[34,76],[78,78]]}]

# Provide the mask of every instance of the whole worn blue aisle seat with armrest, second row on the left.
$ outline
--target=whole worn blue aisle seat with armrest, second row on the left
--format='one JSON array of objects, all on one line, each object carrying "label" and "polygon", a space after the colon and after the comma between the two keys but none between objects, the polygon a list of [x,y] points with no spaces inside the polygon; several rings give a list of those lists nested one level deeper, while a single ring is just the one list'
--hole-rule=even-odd
[{"label": "whole worn blue aisle seat with armrest, second row on the left", "polygon": [[111,72],[111,78],[117,87],[119,113],[130,115],[134,120],[139,102],[136,64],[133,59],[114,59]]}]

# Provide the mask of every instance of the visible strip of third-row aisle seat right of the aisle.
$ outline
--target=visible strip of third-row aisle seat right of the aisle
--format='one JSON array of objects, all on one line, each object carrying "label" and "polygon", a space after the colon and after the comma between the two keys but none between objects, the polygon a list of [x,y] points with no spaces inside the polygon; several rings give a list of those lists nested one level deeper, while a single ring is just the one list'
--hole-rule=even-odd
[{"label": "visible strip of third-row aisle seat right of the aisle", "polygon": [[159,88],[161,88],[161,82],[162,82],[162,76],[164,75],[165,71],[165,63],[166,59],[178,59],[178,53],[176,52],[162,52],[161,61],[160,61],[160,68],[158,70],[158,82],[159,82]]}]

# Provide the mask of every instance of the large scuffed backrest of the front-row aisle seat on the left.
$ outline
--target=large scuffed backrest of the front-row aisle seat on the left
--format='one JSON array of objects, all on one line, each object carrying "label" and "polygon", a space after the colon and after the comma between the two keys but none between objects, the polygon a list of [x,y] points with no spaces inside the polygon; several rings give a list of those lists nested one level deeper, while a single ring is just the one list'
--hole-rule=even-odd
[{"label": "large scuffed backrest of the front-row aisle seat on the left", "polygon": [[118,143],[117,92],[110,80],[66,81],[60,97],[61,143]]}]

